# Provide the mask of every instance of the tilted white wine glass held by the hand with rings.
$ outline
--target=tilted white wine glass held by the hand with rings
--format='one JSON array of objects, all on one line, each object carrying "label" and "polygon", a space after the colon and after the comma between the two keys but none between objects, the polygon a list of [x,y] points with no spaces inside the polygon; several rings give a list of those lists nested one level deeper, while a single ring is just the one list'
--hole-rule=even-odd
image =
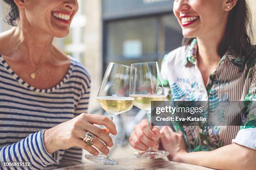
[{"label": "tilted white wine glass held by the hand with rings", "polygon": [[[115,115],[131,110],[134,90],[130,90],[131,67],[110,62],[97,95],[97,102],[108,113],[110,120]],[[104,165],[118,165],[118,161],[108,155],[85,155],[85,158]]]}]

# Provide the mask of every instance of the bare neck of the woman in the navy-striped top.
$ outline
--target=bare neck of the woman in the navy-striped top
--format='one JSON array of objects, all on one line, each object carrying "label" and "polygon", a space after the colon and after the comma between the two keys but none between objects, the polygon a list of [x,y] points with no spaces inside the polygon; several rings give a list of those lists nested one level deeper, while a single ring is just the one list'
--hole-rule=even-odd
[{"label": "bare neck of the woman in the navy-striped top", "polygon": [[13,39],[18,46],[20,59],[36,68],[46,60],[51,60],[53,53],[52,36],[36,32],[36,30],[23,30],[19,26],[13,28]]}]

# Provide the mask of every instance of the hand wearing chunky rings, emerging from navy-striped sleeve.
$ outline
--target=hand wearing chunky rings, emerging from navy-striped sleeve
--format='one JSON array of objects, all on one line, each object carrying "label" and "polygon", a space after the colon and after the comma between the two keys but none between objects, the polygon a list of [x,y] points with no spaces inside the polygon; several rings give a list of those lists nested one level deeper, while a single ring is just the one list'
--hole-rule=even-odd
[{"label": "hand wearing chunky rings, emerging from navy-striped sleeve", "polygon": [[[100,129],[93,124],[104,125],[107,129]],[[87,145],[82,139],[86,132],[94,134],[92,142],[93,146],[98,148],[102,153],[108,154],[109,149],[99,140],[105,142],[108,147],[113,146],[113,140],[108,135],[109,132],[113,135],[117,134],[115,124],[106,116],[91,115],[82,113],[73,119],[63,122],[44,133],[44,144],[48,153],[53,153],[56,150],[66,150],[71,147],[79,147],[87,150],[93,155],[98,155],[99,152],[92,146]]]}]

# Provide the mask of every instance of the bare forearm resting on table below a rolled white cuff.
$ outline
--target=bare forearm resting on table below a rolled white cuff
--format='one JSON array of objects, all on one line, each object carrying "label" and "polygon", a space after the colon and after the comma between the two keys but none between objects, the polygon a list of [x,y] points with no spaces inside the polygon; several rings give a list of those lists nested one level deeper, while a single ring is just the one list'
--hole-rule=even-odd
[{"label": "bare forearm resting on table below a rolled white cuff", "polygon": [[221,170],[251,170],[256,167],[256,151],[232,144],[213,151],[179,153],[172,160]]}]

